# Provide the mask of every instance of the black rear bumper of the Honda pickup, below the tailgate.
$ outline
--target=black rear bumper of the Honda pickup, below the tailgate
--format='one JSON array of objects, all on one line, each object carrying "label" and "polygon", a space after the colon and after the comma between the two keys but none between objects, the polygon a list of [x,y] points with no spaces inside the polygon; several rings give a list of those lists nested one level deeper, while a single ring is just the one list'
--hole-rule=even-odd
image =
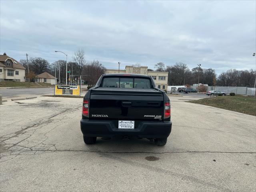
[{"label": "black rear bumper of the Honda pickup, below the tailgate", "polygon": [[134,129],[118,129],[112,120],[80,121],[81,131],[89,137],[138,136],[140,138],[167,138],[172,130],[172,122],[140,122]]}]

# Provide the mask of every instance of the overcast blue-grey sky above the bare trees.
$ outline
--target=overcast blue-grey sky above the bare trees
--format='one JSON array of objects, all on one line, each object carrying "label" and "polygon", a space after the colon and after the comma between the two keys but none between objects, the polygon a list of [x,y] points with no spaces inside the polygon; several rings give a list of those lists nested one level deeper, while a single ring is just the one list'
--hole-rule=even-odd
[{"label": "overcast blue-grey sky above the bare trees", "polygon": [[219,74],[256,67],[256,1],[0,1],[0,53],[16,60],[202,64]]}]

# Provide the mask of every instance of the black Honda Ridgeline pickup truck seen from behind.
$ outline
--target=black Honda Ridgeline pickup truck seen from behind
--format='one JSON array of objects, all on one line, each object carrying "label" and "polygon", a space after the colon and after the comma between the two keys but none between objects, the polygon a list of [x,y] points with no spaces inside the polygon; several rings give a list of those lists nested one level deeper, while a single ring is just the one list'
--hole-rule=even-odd
[{"label": "black Honda Ridgeline pickup truck seen from behind", "polygon": [[80,124],[86,144],[136,136],[162,146],[172,130],[170,100],[151,76],[103,74],[84,96]]}]

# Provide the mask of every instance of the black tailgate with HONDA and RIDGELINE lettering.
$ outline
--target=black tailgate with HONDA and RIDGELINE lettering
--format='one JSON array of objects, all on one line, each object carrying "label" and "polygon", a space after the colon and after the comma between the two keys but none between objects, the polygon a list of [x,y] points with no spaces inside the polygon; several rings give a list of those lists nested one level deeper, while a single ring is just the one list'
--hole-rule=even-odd
[{"label": "black tailgate with HONDA and RIDGELINE lettering", "polygon": [[92,119],[159,121],[164,115],[164,97],[155,89],[100,87],[91,91],[89,111]]}]

